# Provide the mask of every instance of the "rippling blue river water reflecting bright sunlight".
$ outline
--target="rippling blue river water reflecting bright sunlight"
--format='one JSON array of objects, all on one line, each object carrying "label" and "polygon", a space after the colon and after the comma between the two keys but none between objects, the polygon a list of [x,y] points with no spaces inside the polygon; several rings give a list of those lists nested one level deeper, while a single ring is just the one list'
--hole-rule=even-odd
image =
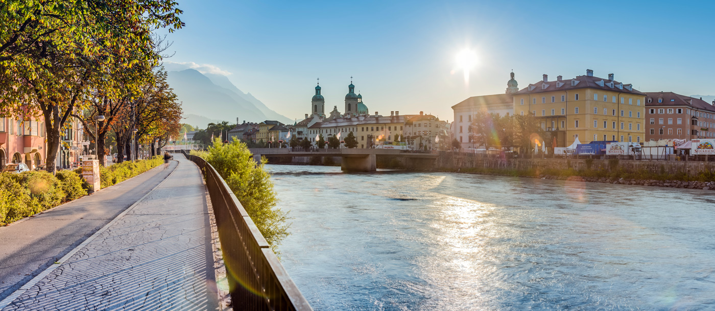
[{"label": "rippling blue river water reflecting bright sunlight", "polygon": [[715,310],[715,194],[267,165],[315,310]]}]

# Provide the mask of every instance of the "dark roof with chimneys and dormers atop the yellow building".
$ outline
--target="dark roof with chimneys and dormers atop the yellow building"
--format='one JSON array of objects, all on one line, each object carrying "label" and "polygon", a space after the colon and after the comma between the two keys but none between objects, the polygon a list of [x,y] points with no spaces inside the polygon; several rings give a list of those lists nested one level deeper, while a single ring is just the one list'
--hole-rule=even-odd
[{"label": "dark roof with chimneys and dormers atop the yellow building", "polygon": [[[546,75],[544,75],[546,76]],[[571,81],[578,81],[576,85],[573,85]],[[601,83],[603,86],[601,86]],[[546,84],[546,88],[543,85]],[[532,88],[533,87],[533,88]],[[531,90],[530,90],[531,88]],[[599,90],[614,91],[628,94],[635,94],[645,96],[646,94],[633,88],[631,84],[623,84],[618,81],[611,81],[605,78],[598,78],[596,76],[577,76],[576,78],[568,80],[556,80],[556,81],[538,81],[537,83],[529,84],[526,88],[522,88],[521,91],[514,93],[514,95],[523,94],[533,94],[533,93],[546,93],[553,91],[568,91],[575,90],[578,88],[596,88]],[[628,88],[631,88],[630,90]]]}]

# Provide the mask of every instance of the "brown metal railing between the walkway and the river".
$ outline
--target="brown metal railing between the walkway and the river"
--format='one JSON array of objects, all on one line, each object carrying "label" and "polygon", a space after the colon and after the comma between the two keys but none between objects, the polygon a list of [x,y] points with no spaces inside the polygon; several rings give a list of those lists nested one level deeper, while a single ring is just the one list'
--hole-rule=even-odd
[{"label": "brown metal railing between the walkway and the river", "polygon": [[223,178],[203,158],[182,153],[206,180],[233,310],[312,311]]}]

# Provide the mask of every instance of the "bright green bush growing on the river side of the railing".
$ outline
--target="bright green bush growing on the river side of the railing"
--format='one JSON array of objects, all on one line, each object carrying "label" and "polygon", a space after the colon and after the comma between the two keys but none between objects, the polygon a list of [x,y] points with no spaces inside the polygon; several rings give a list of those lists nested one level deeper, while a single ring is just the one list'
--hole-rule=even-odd
[{"label": "bright green bush growing on the river side of the railing", "polygon": [[277,245],[289,234],[285,224],[287,213],[275,207],[278,200],[270,174],[263,168],[265,158],[256,165],[245,143],[215,141],[205,159],[224,178],[263,237],[277,252]]}]

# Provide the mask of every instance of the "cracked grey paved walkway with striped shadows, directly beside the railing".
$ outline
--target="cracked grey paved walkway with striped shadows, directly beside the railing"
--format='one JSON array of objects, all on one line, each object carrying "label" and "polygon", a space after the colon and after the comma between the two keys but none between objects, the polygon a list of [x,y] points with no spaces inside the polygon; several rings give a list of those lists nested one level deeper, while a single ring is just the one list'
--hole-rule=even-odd
[{"label": "cracked grey paved walkway with striped shadows, directly beside the railing", "polygon": [[199,169],[172,175],[6,310],[216,310]]}]

